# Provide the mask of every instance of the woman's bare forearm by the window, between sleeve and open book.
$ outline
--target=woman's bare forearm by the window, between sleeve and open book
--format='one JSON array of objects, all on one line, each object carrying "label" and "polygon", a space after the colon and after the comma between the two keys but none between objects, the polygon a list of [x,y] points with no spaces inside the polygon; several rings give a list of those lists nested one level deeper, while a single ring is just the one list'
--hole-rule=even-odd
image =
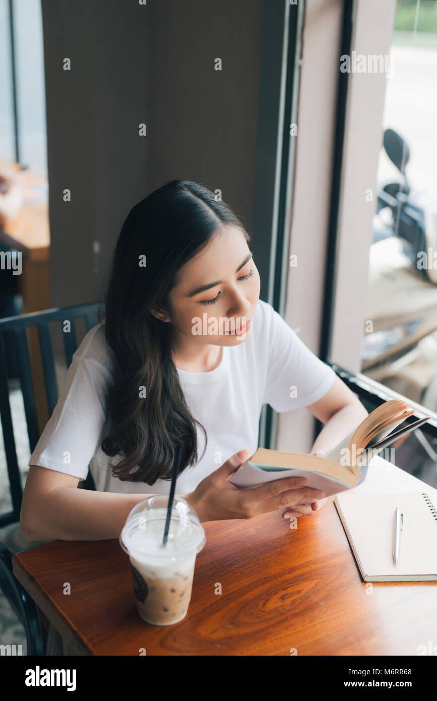
[{"label": "woman's bare forearm by the window, between sleeve and open book", "polygon": [[358,397],[339,377],[335,377],[326,395],[311,404],[308,409],[325,424],[314,441],[311,452],[320,449],[331,450],[368,416],[368,411]]}]

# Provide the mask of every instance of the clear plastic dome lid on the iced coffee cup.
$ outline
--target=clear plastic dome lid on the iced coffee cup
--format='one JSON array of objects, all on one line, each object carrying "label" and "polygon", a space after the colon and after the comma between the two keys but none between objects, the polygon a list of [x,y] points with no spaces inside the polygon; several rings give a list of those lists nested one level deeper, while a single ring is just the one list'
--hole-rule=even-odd
[{"label": "clear plastic dome lid on the iced coffee cup", "polygon": [[167,543],[162,545],[168,498],[151,496],[132,509],[118,538],[127,554],[164,560],[202,550],[207,542],[202,524],[193,507],[179,496],[174,497]]}]

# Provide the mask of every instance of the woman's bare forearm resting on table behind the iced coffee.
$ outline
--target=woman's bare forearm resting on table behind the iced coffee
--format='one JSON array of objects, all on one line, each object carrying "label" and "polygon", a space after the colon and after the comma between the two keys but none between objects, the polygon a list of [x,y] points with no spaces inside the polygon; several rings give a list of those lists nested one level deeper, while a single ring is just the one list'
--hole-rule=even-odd
[{"label": "woman's bare forearm resting on table behind the iced coffee", "polygon": [[[31,465],[20,512],[27,540],[118,538],[134,506],[151,494],[113,494],[77,489],[79,479]],[[188,495],[181,494],[183,498]]]}]

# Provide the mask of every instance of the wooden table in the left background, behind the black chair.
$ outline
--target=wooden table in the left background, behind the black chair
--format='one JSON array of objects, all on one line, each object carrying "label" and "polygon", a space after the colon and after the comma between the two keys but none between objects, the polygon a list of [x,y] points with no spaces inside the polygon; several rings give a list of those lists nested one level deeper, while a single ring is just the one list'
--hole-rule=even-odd
[{"label": "wooden table in the left background, behind the black chair", "polygon": [[[6,246],[22,252],[22,274],[18,285],[23,301],[23,312],[50,309],[50,227],[48,219],[48,198],[39,189],[46,188],[46,177],[30,170],[20,170],[18,163],[8,163],[0,159],[0,172],[7,175],[14,172],[22,187],[24,204],[20,214],[13,221],[0,226],[0,240]],[[36,328],[27,329],[29,360],[34,383],[36,414],[40,433],[50,414],[46,400],[41,350]]]}]

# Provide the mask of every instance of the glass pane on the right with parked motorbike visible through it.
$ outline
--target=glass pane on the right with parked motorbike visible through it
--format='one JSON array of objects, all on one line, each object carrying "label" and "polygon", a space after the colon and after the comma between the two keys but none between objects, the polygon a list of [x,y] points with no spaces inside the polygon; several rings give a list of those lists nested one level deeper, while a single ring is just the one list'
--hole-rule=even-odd
[{"label": "glass pane on the right with parked motorbike visible through it", "polygon": [[437,411],[437,2],[398,0],[361,372]]}]

